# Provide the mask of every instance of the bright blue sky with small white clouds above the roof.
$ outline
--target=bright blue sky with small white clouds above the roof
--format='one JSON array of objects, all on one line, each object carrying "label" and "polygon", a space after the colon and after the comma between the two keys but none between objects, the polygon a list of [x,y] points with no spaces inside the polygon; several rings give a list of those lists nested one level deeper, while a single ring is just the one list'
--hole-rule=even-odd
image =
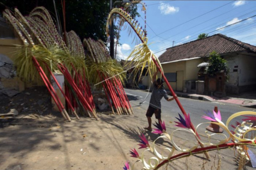
[{"label": "bright blue sky with small white clouds above the roof", "polygon": [[[195,40],[201,33],[207,33],[208,36],[220,33],[256,46],[256,1],[142,2],[147,5],[146,30],[148,44],[152,43],[149,48],[158,57],[173,44],[176,46]],[[141,17],[136,20],[144,28],[144,12],[140,4],[138,7]],[[230,24],[233,25],[223,28]],[[120,33],[122,45],[118,47],[117,52],[118,57],[122,59],[126,59],[136,45],[133,42],[135,34],[129,36],[128,30],[122,30]]]}]

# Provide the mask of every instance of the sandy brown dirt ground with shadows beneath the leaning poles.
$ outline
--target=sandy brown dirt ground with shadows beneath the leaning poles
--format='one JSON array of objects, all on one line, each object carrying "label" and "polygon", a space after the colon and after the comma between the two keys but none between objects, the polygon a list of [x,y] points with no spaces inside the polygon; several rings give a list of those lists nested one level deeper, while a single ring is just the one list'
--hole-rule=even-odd
[{"label": "sandy brown dirt ground with shadows beneath the leaning poles", "polygon": [[[136,161],[130,157],[129,150],[138,148],[138,135],[143,132],[149,142],[159,137],[143,130],[147,121],[144,110],[139,107],[133,108],[133,115],[117,116],[106,111],[98,113],[99,121],[87,117],[64,121],[60,113],[50,110],[50,97],[44,90],[27,89],[12,98],[0,96],[1,113],[11,108],[19,111],[15,118],[0,119],[1,170],[122,169],[124,162],[129,161],[131,165]],[[174,127],[167,127],[167,130],[172,131]],[[180,135],[177,134],[177,139],[182,138]],[[159,147],[170,147],[168,141],[157,143]],[[186,165],[193,170],[202,169],[203,165],[205,169],[216,169],[216,153],[209,152],[210,161],[204,154],[198,154],[173,161],[160,169],[186,169]],[[219,153],[221,169],[237,168],[233,149]],[[142,168],[141,164],[137,165],[137,169]],[[247,169],[253,169],[250,163]]]}]

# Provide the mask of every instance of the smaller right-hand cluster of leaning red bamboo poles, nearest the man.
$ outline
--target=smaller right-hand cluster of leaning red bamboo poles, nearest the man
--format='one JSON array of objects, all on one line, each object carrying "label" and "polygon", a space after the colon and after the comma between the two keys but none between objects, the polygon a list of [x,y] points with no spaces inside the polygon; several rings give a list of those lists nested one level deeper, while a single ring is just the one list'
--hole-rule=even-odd
[{"label": "smaller right-hand cluster of leaning red bamboo poles, nearest the man", "polygon": [[[91,38],[83,40],[84,45],[90,52],[89,57],[93,61],[90,69],[90,81],[94,84],[101,84],[112,112],[115,114],[133,114],[128,97],[124,92],[122,80],[125,74],[123,69],[112,60],[108,54],[105,44],[102,41],[95,41]],[[112,106],[113,103],[113,106]]]}]

